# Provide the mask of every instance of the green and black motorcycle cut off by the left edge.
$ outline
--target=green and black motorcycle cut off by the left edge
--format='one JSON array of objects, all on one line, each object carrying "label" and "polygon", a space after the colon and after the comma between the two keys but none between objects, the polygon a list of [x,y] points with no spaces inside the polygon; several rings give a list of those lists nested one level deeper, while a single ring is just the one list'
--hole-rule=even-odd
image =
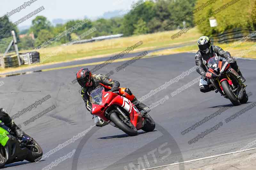
[{"label": "green and black motorcycle cut off by the left edge", "polygon": [[42,148],[32,137],[24,134],[17,139],[11,129],[0,121],[0,168],[23,160],[35,162],[42,155]]}]

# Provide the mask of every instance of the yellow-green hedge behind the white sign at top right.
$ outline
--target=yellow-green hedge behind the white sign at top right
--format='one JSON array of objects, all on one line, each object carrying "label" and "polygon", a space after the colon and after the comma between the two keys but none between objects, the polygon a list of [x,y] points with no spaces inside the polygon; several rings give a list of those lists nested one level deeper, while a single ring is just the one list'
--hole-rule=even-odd
[{"label": "yellow-green hedge behind the white sign at top right", "polygon": [[[206,3],[207,0],[198,0],[196,8]],[[206,17],[206,20],[200,24],[199,30],[207,36],[212,36],[215,33],[223,33],[224,31],[233,30],[236,28],[251,28],[255,27],[256,23],[256,0],[240,0],[228,8],[215,14],[213,17],[217,20],[218,26],[211,27],[209,22],[209,14],[211,12],[220,9],[221,6],[231,2],[231,0],[216,1],[215,4],[211,4],[195,13],[195,21],[198,21],[202,17]]]}]

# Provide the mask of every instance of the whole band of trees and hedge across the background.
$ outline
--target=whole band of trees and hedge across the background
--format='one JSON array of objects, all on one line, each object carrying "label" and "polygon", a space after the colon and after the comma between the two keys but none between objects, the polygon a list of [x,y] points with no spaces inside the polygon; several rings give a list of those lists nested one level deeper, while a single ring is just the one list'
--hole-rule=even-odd
[{"label": "whole band of trees and hedge across the background", "polygon": [[[90,37],[85,37],[84,39],[118,33],[123,33],[124,36],[155,33],[165,31],[164,27],[168,25],[168,30],[184,28],[192,25],[202,17],[209,16],[211,12],[232,0],[214,1],[214,3],[205,6],[204,9],[196,11],[195,14],[188,15],[188,13],[191,14],[196,8],[199,8],[202,4],[206,4],[209,1],[210,0],[144,0],[142,3],[132,4],[131,10],[129,12],[127,11],[124,15],[110,19],[99,18],[95,21],[90,21],[72,33],[62,37],[59,41],[52,43],[51,46],[75,40],[79,35],[92,27],[95,27],[97,31],[90,34]],[[204,23],[198,26],[199,30],[205,35],[211,36],[214,33],[221,33],[225,30],[237,27],[254,29],[256,26],[256,0],[235,1],[237,1],[235,4],[213,16],[217,20],[217,27],[210,27],[209,18],[207,18]],[[182,20],[179,19],[181,17],[183,17]],[[179,22],[177,22],[177,20]],[[28,30],[19,32],[17,27],[13,26],[8,18],[4,18],[0,20],[0,41],[8,39],[8,34],[2,33],[4,30],[7,30],[7,32],[15,30],[17,34],[29,34],[33,32],[35,40],[29,36],[18,38],[18,46],[20,49],[35,48],[79,22],[81,22],[81,20],[71,20],[65,24],[52,26],[51,22],[46,17],[37,16],[32,21],[32,26]],[[0,52],[3,52],[4,49],[1,49],[1,47],[2,45],[0,43]]]}]

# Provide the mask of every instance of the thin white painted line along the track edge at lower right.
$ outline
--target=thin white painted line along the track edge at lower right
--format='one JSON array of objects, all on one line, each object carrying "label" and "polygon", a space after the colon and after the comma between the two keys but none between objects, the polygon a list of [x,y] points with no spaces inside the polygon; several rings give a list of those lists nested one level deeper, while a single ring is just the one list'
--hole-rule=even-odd
[{"label": "thin white painted line along the track edge at lower right", "polygon": [[190,162],[196,162],[196,161],[199,161],[199,160],[210,159],[210,158],[215,158],[215,157],[225,156],[225,155],[231,155],[231,154],[234,154],[234,153],[246,152],[246,151],[251,151],[251,150],[255,150],[255,149],[256,148],[251,148],[251,149],[245,149],[245,150],[241,150],[241,151],[223,153],[223,154],[220,154],[220,155],[214,155],[214,156],[208,156],[208,157],[204,157],[204,158],[192,159],[192,160],[187,160],[187,161],[183,161],[183,162],[177,162],[177,163],[172,163],[172,164],[168,164],[168,165],[156,166],[156,167],[142,169],[142,170],[150,170],[150,169],[156,169],[156,168],[163,168],[163,167],[166,167],[166,166],[186,164],[186,163],[190,163]]}]

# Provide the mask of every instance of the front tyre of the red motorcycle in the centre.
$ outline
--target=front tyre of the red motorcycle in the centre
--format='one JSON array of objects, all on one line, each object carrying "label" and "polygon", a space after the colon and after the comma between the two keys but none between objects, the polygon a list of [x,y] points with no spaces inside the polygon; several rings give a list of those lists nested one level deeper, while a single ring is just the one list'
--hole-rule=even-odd
[{"label": "front tyre of the red motorcycle in the centre", "polygon": [[109,116],[109,120],[113,123],[115,123],[115,125],[124,131],[124,133],[128,134],[129,136],[136,136],[138,135],[137,129],[135,128],[135,126],[130,122],[129,126],[127,124],[124,123],[124,121],[122,120],[122,118],[120,117],[120,115],[116,114],[116,112],[113,112],[110,116]]}]

